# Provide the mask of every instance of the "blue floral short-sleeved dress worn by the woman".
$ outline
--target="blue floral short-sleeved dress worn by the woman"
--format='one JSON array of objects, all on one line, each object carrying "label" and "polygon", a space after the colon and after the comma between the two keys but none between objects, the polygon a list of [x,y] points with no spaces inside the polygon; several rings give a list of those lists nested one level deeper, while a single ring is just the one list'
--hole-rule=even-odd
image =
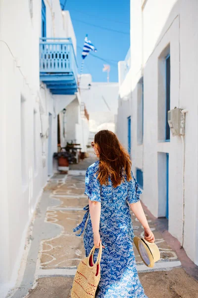
[{"label": "blue floral short-sleeved dress worn by the woman", "polygon": [[[87,168],[85,176],[85,194],[91,201],[101,203],[99,234],[102,245],[100,261],[100,281],[96,298],[148,298],[139,280],[133,250],[133,224],[128,203],[140,201],[142,191],[131,171],[133,180],[125,181],[113,187],[110,176],[109,185],[100,185],[97,175],[99,160]],[[128,202],[128,203],[127,203]],[[84,207],[87,212],[81,224],[74,232],[82,228],[86,256],[94,246],[89,204]],[[85,223],[87,221],[85,227]],[[94,254],[96,262],[98,250]]]}]

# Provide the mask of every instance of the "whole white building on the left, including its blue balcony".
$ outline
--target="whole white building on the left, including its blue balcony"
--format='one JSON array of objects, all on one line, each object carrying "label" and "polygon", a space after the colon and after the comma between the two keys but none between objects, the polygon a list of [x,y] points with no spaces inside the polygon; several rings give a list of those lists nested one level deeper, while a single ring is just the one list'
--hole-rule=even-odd
[{"label": "whole white building on the left, including its blue balcony", "polygon": [[3,293],[16,281],[27,227],[53,173],[58,138],[61,146],[73,140],[82,151],[87,149],[89,124],[77,91],[76,38],[69,12],[61,10],[59,0],[0,0]]}]

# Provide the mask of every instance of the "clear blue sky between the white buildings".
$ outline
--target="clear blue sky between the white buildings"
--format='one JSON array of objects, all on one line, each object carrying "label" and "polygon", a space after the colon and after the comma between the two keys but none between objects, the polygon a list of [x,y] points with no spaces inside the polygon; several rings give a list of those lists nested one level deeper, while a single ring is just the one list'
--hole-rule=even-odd
[{"label": "clear blue sky between the white buildings", "polygon": [[84,39],[88,34],[88,39],[97,48],[97,52],[91,54],[98,58],[92,55],[86,57],[83,73],[92,74],[93,81],[105,82],[107,73],[102,72],[102,68],[103,64],[109,64],[109,81],[117,82],[117,63],[125,59],[130,47],[130,0],[67,0],[65,10],[70,12],[76,34],[78,71],[82,62]]}]

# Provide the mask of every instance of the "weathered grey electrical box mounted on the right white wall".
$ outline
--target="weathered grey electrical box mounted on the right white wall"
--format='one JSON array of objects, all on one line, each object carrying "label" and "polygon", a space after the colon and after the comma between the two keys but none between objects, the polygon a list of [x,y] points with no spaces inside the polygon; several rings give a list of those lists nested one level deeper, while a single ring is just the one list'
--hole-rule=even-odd
[{"label": "weathered grey electrical box mounted on the right white wall", "polygon": [[168,124],[173,137],[185,135],[185,113],[182,110],[175,107],[168,111]]}]

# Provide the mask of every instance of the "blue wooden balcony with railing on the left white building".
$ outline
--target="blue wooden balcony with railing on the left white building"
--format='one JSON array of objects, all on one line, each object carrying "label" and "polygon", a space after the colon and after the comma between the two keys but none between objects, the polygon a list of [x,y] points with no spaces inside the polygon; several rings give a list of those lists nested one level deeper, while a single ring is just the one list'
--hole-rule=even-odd
[{"label": "blue wooden balcony with railing on the left white building", "polygon": [[52,94],[77,92],[77,62],[71,38],[40,38],[40,80]]}]

